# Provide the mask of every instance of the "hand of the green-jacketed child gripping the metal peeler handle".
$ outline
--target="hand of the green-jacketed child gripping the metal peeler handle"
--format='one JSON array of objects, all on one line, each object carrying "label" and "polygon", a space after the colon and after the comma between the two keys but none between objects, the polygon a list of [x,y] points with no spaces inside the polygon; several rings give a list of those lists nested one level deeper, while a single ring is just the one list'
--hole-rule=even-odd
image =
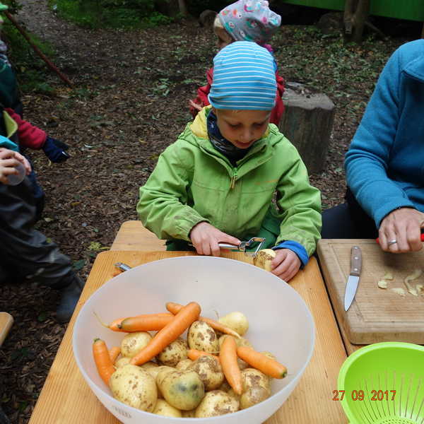
[{"label": "hand of the green-jacketed child gripping the metal peeler handle", "polygon": [[192,244],[198,254],[207,254],[213,256],[220,255],[219,242],[230,243],[231,245],[240,245],[240,240],[231,235],[225,234],[208,223],[199,223],[194,225],[190,232]]}]

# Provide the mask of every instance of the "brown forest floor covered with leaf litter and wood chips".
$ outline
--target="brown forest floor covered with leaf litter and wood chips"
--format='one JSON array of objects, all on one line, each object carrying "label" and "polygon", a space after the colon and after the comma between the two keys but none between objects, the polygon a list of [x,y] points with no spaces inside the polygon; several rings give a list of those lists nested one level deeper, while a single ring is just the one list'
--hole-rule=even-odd
[{"label": "brown forest floor covered with leaf litter and wood chips", "polygon": [[[86,278],[119,226],[136,219],[139,186],[191,119],[187,103],[205,83],[216,40],[196,20],[88,30],[58,18],[47,0],[22,4],[16,18],[54,47],[52,59],[73,82],[69,88],[47,72],[52,93],[22,97],[25,118],[68,143],[71,154],[55,165],[42,152],[31,153],[47,196],[37,228]],[[343,155],[382,66],[406,41],[367,37],[363,45],[343,45],[338,33],[322,35],[313,25],[283,25],[273,38],[286,81],[314,87],[336,105],[326,165],[310,176],[324,208],[343,201]],[[66,325],[54,319],[57,300],[57,292],[35,283],[1,287],[0,310],[15,324],[0,350],[0,406],[13,424],[28,422],[64,335]]]}]

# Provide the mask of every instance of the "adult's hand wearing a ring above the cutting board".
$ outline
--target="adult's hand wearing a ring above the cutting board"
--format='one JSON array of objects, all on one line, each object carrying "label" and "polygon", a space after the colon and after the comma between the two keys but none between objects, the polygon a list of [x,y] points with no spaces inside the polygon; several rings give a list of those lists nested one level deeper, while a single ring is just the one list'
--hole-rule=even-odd
[{"label": "adult's hand wearing a ring above the cutting board", "polygon": [[[385,252],[416,252],[423,247],[420,240],[424,213],[414,208],[399,208],[385,216],[379,228],[379,245]],[[396,240],[396,243],[390,241]]]}]

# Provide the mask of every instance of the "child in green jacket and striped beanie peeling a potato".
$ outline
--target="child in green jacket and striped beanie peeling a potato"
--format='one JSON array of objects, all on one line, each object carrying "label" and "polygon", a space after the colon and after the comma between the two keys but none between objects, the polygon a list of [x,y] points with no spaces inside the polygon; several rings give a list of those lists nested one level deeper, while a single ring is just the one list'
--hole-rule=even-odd
[{"label": "child in green jacket and striped beanie peeling a potato", "polygon": [[198,254],[219,256],[219,242],[266,237],[276,249],[272,272],[289,281],[316,248],[321,201],[298,151],[269,124],[273,57],[237,41],[213,62],[211,106],[160,155],[140,188],[139,218],[170,240],[168,249],[191,243]]}]

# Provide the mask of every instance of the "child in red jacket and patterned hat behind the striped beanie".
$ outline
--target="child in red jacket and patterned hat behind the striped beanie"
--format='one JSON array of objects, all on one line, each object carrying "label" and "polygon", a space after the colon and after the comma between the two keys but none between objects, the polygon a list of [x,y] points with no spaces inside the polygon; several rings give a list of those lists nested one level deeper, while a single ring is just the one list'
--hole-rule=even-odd
[{"label": "child in red jacket and patterned hat behind the striped beanie", "polygon": [[[266,0],[239,0],[223,8],[217,14],[213,23],[213,32],[218,37],[218,49],[222,49],[234,41],[256,42],[261,47],[265,47],[269,52],[273,52],[271,45],[266,44],[278,30],[281,24],[281,16],[277,15],[269,8]],[[278,75],[277,65],[274,62],[276,73],[276,105],[271,112],[270,122],[278,124],[284,112],[283,100],[284,79]],[[209,105],[208,94],[213,81],[213,68],[206,72],[206,86],[197,90],[197,97],[189,100],[189,108],[193,117],[202,109]]]}]

